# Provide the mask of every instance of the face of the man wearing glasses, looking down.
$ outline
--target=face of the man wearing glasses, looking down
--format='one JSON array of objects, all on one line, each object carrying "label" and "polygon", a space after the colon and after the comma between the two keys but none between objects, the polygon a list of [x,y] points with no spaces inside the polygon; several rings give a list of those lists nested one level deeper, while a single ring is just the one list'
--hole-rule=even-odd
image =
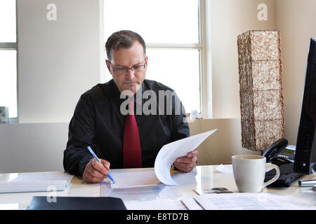
[{"label": "face of the man wearing glasses, looking down", "polygon": [[[110,63],[106,60],[107,69],[109,69],[112,74],[114,83],[117,85],[119,92],[130,90],[133,94],[136,94],[145,79],[147,71],[148,57],[144,57],[143,46],[138,41],[135,41],[131,48],[112,49],[111,55],[112,62]],[[133,71],[128,69],[128,71],[126,71],[126,68],[137,68],[144,64],[145,69],[142,68],[140,69],[141,71],[136,71],[138,69],[133,69]]]}]

